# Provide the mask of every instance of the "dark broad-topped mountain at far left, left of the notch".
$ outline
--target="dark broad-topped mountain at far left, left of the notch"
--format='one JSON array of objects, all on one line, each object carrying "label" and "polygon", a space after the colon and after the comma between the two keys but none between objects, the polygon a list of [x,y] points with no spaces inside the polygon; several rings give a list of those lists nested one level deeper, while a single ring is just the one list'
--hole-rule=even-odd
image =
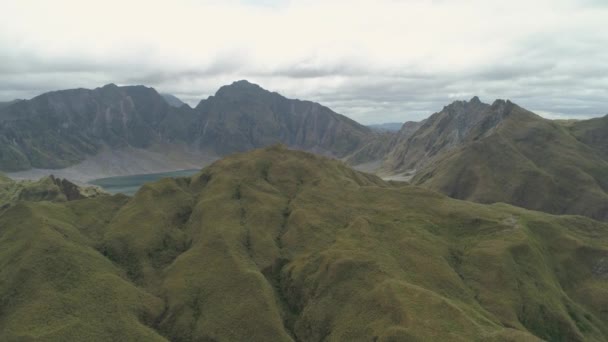
[{"label": "dark broad-topped mountain at far left, left of the notch", "polygon": [[20,101],[0,109],[0,169],[63,168],[103,146],[147,148],[176,139],[183,133],[172,130],[172,113],[154,89],[143,86],[109,84]]}]

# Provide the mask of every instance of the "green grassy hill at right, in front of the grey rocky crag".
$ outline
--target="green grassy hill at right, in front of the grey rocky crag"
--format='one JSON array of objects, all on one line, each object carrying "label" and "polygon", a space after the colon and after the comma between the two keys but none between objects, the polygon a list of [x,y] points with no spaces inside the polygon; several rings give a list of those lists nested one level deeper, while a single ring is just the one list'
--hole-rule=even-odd
[{"label": "green grassy hill at right, in front of the grey rocky crag", "polygon": [[414,182],[460,199],[608,220],[608,159],[568,127],[511,106],[495,131],[443,154]]}]

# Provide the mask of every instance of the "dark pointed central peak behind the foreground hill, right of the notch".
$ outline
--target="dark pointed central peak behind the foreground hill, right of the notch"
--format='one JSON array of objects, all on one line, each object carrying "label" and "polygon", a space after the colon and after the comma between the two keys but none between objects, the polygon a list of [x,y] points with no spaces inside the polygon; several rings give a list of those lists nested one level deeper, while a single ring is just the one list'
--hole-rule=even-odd
[{"label": "dark pointed central peak behind the foreground hill, right of the notch", "polygon": [[197,145],[219,155],[281,142],[341,158],[375,136],[325,106],[287,99],[247,81],[221,87],[195,110],[200,114]]}]

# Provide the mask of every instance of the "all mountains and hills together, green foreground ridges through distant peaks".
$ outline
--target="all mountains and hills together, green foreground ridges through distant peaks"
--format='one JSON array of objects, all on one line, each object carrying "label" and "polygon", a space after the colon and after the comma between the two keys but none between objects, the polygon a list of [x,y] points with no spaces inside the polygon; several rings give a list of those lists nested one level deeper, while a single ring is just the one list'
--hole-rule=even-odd
[{"label": "all mountains and hills together, green foreground ridges through distant peaks", "polygon": [[62,175],[0,174],[0,341],[608,341],[607,137],[478,97],[379,131],[247,81],[0,105],[0,169]]}]

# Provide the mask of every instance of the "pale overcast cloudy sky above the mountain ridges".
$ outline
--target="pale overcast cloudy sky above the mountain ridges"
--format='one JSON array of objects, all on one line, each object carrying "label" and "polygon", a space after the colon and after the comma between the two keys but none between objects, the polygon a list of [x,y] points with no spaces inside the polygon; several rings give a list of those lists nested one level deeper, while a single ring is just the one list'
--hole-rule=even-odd
[{"label": "pale overcast cloudy sky above the mountain ridges", "polygon": [[455,100],[608,114],[606,0],[0,0],[0,101],[143,84],[196,105],[247,79],[361,123]]}]

